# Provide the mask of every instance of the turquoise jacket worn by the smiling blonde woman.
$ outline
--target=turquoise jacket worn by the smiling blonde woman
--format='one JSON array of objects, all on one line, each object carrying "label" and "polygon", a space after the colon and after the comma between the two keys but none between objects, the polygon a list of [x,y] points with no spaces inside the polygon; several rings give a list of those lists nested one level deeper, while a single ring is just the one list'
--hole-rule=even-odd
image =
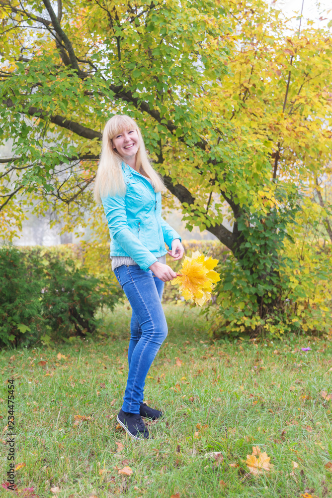
[{"label": "turquoise jacket worn by the smiling blonde woman", "polygon": [[110,256],[130,256],[144,271],[181,237],[162,218],[162,195],[147,178],[122,164],[124,196],[101,199],[111,238]]}]

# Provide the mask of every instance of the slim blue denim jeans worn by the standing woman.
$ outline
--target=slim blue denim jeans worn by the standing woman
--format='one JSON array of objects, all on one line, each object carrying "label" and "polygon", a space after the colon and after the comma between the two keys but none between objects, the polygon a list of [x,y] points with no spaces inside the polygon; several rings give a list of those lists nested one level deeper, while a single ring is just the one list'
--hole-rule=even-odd
[{"label": "slim blue denim jeans worn by the standing woman", "polygon": [[132,307],[128,349],[129,373],[122,410],[140,412],[145,378],[167,336],[167,323],[161,303],[164,282],[151,270],[138,264],[122,264],[114,269]]}]

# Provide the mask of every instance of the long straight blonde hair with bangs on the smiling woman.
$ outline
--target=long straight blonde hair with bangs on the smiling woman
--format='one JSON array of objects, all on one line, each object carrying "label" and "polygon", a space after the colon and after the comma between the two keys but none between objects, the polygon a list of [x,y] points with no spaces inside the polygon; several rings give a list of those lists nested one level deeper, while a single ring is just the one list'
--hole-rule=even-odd
[{"label": "long straight blonde hair with bangs on the smiling woman", "polygon": [[139,137],[136,166],[139,166],[150,178],[155,192],[161,192],[164,189],[161,175],[150,164],[140,128],[130,116],[116,114],[107,121],[102,134],[102,148],[93,188],[93,198],[97,204],[101,203],[101,197],[125,195],[126,193],[121,167],[123,159],[117,150],[113,149],[112,138],[130,129],[135,129]]}]

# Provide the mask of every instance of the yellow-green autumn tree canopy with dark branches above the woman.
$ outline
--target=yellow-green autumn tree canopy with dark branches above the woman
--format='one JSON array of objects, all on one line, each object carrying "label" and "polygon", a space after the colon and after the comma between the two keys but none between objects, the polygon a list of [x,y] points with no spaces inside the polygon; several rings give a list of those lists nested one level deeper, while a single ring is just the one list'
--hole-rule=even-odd
[{"label": "yellow-green autumn tree canopy with dark branches above the woman", "polygon": [[260,0],[0,5],[1,141],[13,150],[1,159],[3,230],[14,233],[32,199],[69,226],[84,210],[100,219],[101,132],[126,113],[188,226],[207,228],[270,289],[301,196],[316,239],[332,238],[331,22],[287,23]]}]

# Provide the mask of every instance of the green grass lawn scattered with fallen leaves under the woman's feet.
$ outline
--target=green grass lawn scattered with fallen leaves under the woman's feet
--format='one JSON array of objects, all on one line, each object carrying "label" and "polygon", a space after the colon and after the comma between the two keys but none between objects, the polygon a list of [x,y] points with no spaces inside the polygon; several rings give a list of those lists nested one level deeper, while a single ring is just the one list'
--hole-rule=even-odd
[{"label": "green grass lawn scattered with fallen leaves under the woman's feet", "polygon": [[[1,353],[4,429],[6,379],[16,379],[15,462],[25,464],[17,470],[18,488],[33,486],[38,498],[54,496],[52,486],[60,488],[58,498],[331,498],[325,464],[332,461],[332,401],[320,394],[332,392],[331,344],[311,339],[308,353],[301,351],[305,338],[227,345],[208,339],[197,309],[167,304],[165,311],[169,333],[145,391],[165,418],[150,424],[148,441],[116,429],[128,372],[127,305],[104,316],[93,341]],[[76,415],[90,418],[74,425]],[[0,439],[3,482],[5,431]],[[246,465],[253,445],[273,464],[258,477]],[[214,451],[223,455],[220,465],[206,456]],[[118,474],[124,466],[131,476]],[[2,495],[8,492],[0,487]]]}]

